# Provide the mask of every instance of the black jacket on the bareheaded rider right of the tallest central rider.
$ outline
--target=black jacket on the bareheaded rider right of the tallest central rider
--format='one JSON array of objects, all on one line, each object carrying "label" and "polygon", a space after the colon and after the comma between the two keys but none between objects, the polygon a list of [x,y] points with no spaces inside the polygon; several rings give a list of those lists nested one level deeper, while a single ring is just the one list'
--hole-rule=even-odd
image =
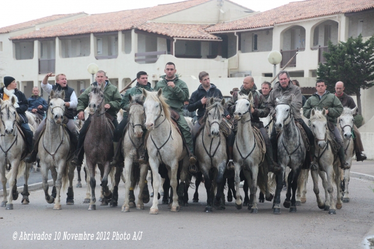
[{"label": "black jacket on the bareheaded rider right of the tallest central rider", "polygon": [[[201,103],[201,99],[203,97],[206,97],[208,100],[211,97],[218,97],[219,99],[223,98],[221,91],[215,85],[211,84],[211,89],[209,89],[208,91],[205,91],[202,85],[200,85],[197,88],[197,90],[192,93],[191,98],[189,100],[189,106],[187,107],[189,112],[193,112],[199,109],[197,111],[197,120],[202,118],[202,116],[204,116],[205,114],[206,105],[202,105]],[[225,116],[229,114],[226,109],[225,109],[224,114]]]}]

